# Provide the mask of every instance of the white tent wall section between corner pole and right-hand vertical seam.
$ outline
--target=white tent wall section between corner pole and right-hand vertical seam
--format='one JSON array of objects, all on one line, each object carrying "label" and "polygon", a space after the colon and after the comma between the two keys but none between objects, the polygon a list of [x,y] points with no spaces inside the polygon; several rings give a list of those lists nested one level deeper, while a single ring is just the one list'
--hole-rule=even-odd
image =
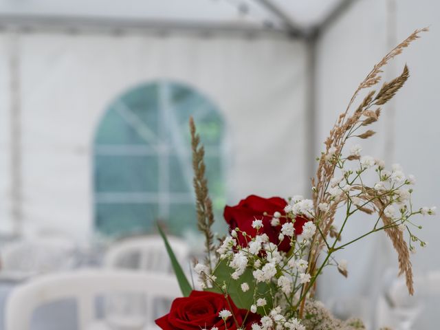
[{"label": "white tent wall section between corner pole and right-hand vertical seam", "polygon": [[[369,20],[360,20],[364,15]],[[318,141],[327,137],[334,120],[344,111],[355,88],[364,79],[373,67],[386,54],[386,7],[385,1],[360,1],[352,6],[340,20],[329,28],[318,42]],[[343,36],[343,37],[342,37]],[[362,100],[362,96],[358,101]],[[386,112],[386,111],[384,111]],[[385,114],[386,115],[386,114]],[[382,159],[386,158],[384,141],[386,140],[386,118],[374,128],[377,135],[369,141],[356,141],[363,146],[363,152]],[[379,126],[380,125],[380,126]],[[379,127],[378,127],[379,126]],[[349,142],[350,146],[351,142]],[[322,144],[319,146],[322,149]],[[354,166],[354,164],[353,164]],[[361,218],[361,217],[360,217]],[[336,223],[340,228],[340,220]],[[351,241],[364,232],[371,230],[374,225],[371,219],[353,219],[355,223],[348,223],[344,229],[344,241]],[[350,299],[364,301],[358,313],[363,313],[365,320],[371,320],[377,290],[373,288],[376,281],[380,281],[384,263],[394,261],[390,257],[391,247],[382,235],[370,236],[367,241],[352,245],[350,249],[340,252],[337,260],[349,261],[349,277],[344,278],[333,270],[325,271],[322,285],[319,287],[320,296],[329,305],[341,309]],[[361,262],[357,262],[361,260]],[[375,267],[371,267],[371,265]],[[377,286],[378,287],[378,286]],[[335,297],[337,298],[335,299]],[[355,300],[353,300],[355,301]],[[339,307],[338,307],[339,306]],[[371,325],[370,325],[371,327]],[[375,329],[374,327],[371,329]]]}]

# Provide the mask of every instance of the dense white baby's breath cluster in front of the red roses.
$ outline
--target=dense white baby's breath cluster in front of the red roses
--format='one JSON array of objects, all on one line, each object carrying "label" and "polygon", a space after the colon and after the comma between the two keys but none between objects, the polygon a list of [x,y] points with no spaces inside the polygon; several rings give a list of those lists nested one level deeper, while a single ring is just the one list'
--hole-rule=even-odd
[{"label": "dense white baby's breath cluster in front of the red roses", "polygon": [[[235,228],[231,231],[231,236],[226,237],[217,249],[220,260],[225,261],[231,268],[231,278],[239,281],[241,292],[253,292],[254,303],[250,306],[250,311],[256,313],[258,310],[262,317],[258,323],[252,325],[252,329],[305,330],[299,320],[292,318],[289,304],[298,300],[301,287],[312,278],[307,272],[309,265],[305,256],[316,234],[316,225],[313,221],[307,221],[300,235],[295,232],[295,228],[298,228],[295,225],[296,217],[313,219],[311,214],[314,214],[313,202],[295,196],[290,199],[286,215],[282,216],[280,212],[271,214],[271,225],[279,226],[278,241],[270,241],[269,236],[264,233],[263,221],[255,219],[252,227],[256,229],[256,236],[252,237],[240,228]],[[241,236],[245,238],[245,246],[239,243],[243,243],[243,240],[239,241]],[[286,246],[285,239],[289,241],[289,253],[285,248],[279,250],[281,244],[283,247]],[[241,281],[246,270],[250,270],[250,273],[246,274],[252,274],[253,281],[249,281],[248,275],[245,277],[246,280]],[[214,282],[216,287],[225,287],[224,283],[215,283],[216,278],[208,274],[208,267],[197,264],[195,272],[207,274],[208,280]],[[274,286],[276,289],[273,292],[259,292],[258,286],[256,287],[259,283]],[[269,301],[271,306],[277,307],[267,311]]]}]

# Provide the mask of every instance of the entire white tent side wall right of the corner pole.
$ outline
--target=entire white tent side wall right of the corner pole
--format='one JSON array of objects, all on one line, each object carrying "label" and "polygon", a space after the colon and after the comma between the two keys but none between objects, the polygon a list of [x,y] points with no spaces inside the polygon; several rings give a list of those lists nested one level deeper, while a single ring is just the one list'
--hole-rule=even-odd
[{"label": "entire white tent side wall right of the corner pole", "polygon": [[[358,1],[318,41],[318,141],[322,141],[328,134],[334,118],[347,107],[355,87],[373,64],[380,61],[391,47],[416,28],[438,21],[435,13],[440,10],[440,4],[437,2],[423,1],[416,5],[409,0],[396,1],[397,12],[394,18],[393,12],[390,12],[392,8],[387,7],[392,2]],[[364,19],[366,17],[369,19]],[[390,31],[393,29],[393,19],[397,21],[395,37]],[[439,33],[439,28],[432,26],[428,34],[423,34],[422,39],[391,63],[384,73],[385,80],[397,76],[405,63],[408,63],[411,77],[394,102],[384,106],[382,120],[373,128],[378,131],[377,135],[368,142],[361,141],[364,154],[382,157],[388,166],[399,162],[406,173],[416,174],[416,206],[439,204],[440,179],[433,175],[439,161],[437,151],[440,140],[437,124],[440,120],[437,111]],[[390,36],[392,38],[388,40]],[[359,100],[362,100],[362,96]],[[419,273],[417,270],[426,272],[440,269],[440,259],[437,256],[440,248],[440,225],[432,219],[419,220],[423,225],[420,236],[430,241],[431,245],[412,256],[416,274]],[[368,217],[353,221],[355,223],[344,230],[344,239],[347,241],[371,228]],[[370,236],[366,241],[352,245],[349,250],[340,252],[336,257],[349,261],[349,278],[346,279],[332,270],[325,272],[322,282],[332,285],[321,286],[320,294],[327,302],[335,294],[338,294],[341,301],[363,297],[374,302],[371,298],[379,294],[384,284],[381,283],[384,270],[397,267],[397,256],[384,234]],[[368,305],[367,303],[364,312],[373,314],[374,306],[371,303]],[[367,311],[369,307],[370,311]],[[427,311],[419,318],[415,329],[432,329],[435,308],[437,307],[426,306]]]}]

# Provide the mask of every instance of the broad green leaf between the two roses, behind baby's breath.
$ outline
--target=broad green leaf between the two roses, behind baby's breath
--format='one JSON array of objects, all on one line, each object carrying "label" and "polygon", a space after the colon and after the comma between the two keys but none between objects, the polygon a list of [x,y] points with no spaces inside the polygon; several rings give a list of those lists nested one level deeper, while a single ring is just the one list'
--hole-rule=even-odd
[{"label": "broad green leaf between the two roses, behind baby's breath", "polygon": [[[214,270],[214,275],[217,276],[216,283],[218,283],[219,285],[225,283],[225,285],[228,287],[228,294],[232,298],[232,301],[234,301],[236,307],[250,309],[250,306],[254,303],[255,290],[255,279],[252,275],[252,268],[246,268],[245,272],[243,273],[243,275],[240,276],[238,280],[234,280],[233,278],[231,278],[232,272],[233,270],[231,267],[228,266],[227,260],[220,261]],[[241,289],[241,283],[248,283],[249,290],[247,292],[243,292],[243,290]],[[269,294],[267,294],[267,292],[271,289],[272,292],[274,292],[274,285],[259,283],[258,285],[256,285],[256,298],[267,298],[267,296],[270,296]],[[207,290],[211,292],[221,293],[219,287],[215,286]],[[272,301],[267,301],[265,309],[272,309],[272,305]],[[263,313],[263,309],[260,310],[259,308],[258,312],[259,314]]]}]

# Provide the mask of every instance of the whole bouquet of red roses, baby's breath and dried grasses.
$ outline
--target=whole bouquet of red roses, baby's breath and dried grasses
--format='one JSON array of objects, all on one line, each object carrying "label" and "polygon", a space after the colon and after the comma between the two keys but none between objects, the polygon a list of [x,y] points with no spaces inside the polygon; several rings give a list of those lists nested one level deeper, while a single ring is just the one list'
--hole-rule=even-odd
[{"label": "whole bouquet of red roses, baby's breath and dried grasses", "polygon": [[[356,89],[325,140],[318,157],[316,177],[311,180],[311,199],[302,196],[265,199],[249,196],[236,206],[226,206],[228,236],[214,241],[214,223],[208,196],[203,146],[190,120],[194,186],[198,228],[206,239],[206,258],[195,261],[199,291],[193,289],[161,232],[183,298],[174,300],[169,314],[156,320],[165,330],[319,330],[364,329],[361,320],[333,318],[322,303],[314,300],[318,276],[324,267],[336,266],[347,276],[347,262],[333,256],[339,250],[376,232],[385,232],[399,261],[399,274],[413,294],[410,252],[415,244],[425,246],[413,232],[419,228],[415,216],[434,214],[435,208],[415,208],[411,195],[415,179],[401,166],[386,168],[380,159],[362,155],[359,144],[375,132],[368,126],[380,118],[386,104],[408,79],[408,67],[380,89],[382,68],[418,38],[416,30],[389,52]],[[352,109],[362,90],[365,97]],[[351,169],[352,168],[352,169]],[[375,177],[375,179],[371,179]],[[344,228],[360,212],[371,215],[371,230],[342,243]],[[333,224],[336,216],[342,225]]]}]

